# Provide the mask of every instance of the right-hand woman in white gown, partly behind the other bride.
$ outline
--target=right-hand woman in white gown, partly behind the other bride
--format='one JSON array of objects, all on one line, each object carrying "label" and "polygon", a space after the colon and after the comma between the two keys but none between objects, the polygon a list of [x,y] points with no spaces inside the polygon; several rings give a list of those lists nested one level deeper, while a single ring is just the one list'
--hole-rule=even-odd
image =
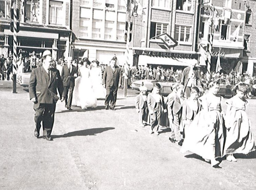
[{"label": "right-hand woman in white gown, partly behind the other bride", "polygon": [[106,89],[102,86],[102,73],[99,66],[99,61],[92,62],[92,68],[90,72],[92,80],[92,88],[97,99],[106,97]]}]

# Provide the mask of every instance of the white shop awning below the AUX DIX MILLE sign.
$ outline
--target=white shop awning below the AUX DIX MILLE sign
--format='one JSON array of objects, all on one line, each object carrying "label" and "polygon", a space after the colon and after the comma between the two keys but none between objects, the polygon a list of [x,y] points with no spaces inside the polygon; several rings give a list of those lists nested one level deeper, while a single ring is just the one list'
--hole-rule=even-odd
[{"label": "white shop awning below the AUX DIX MILLE sign", "polygon": [[138,65],[179,65],[189,66],[191,63],[197,63],[196,59],[183,57],[159,57],[150,55],[139,55]]}]

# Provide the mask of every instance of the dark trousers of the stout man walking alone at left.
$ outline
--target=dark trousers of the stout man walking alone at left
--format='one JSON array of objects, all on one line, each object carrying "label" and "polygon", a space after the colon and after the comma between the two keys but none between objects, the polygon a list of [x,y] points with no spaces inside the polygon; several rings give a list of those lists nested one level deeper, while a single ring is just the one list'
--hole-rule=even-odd
[{"label": "dark trousers of the stout man walking alone at left", "polygon": [[51,135],[54,123],[54,112],[56,103],[53,104],[34,104],[34,121],[36,123],[36,131],[39,133],[41,122],[43,123],[43,135]]}]

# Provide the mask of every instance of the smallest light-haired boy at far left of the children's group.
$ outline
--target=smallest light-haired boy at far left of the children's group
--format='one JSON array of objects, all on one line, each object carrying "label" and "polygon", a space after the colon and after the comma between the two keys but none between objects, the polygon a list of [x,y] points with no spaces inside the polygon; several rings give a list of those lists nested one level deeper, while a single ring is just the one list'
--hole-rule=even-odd
[{"label": "smallest light-haired boy at far left of the children's group", "polygon": [[147,108],[147,87],[139,87],[139,95],[136,96],[136,111],[139,113],[139,126],[145,127],[145,123],[148,122],[149,110]]}]

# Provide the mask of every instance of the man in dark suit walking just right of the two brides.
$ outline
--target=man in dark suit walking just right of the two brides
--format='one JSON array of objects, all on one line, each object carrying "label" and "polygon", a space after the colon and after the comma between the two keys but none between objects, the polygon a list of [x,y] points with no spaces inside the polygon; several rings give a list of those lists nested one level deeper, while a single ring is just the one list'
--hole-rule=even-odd
[{"label": "man in dark suit walking just right of the two brides", "polygon": [[120,76],[122,72],[116,65],[117,61],[111,59],[109,66],[107,66],[103,73],[103,86],[106,88],[107,95],[105,100],[105,109],[107,110],[110,103],[110,109],[115,110],[117,101],[117,89]]}]

